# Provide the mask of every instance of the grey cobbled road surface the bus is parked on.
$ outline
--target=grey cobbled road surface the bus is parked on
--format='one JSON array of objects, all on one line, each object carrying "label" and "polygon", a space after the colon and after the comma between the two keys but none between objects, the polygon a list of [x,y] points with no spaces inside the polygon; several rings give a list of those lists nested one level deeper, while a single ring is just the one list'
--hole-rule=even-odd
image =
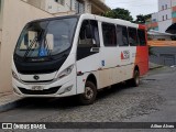
[{"label": "grey cobbled road surface the bus is parked on", "polygon": [[0,122],[176,122],[176,68],[150,72],[139,88],[118,85],[102,90],[91,106],[79,106],[75,98],[36,98],[24,102],[0,113]]}]

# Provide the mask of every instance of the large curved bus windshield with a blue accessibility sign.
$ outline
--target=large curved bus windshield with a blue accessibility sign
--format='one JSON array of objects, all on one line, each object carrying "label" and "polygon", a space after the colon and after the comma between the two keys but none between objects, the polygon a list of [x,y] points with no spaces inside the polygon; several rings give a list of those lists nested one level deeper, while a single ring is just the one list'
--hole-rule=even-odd
[{"label": "large curved bus windshield with a blue accessibility sign", "polygon": [[20,57],[48,57],[58,55],[72,46],[77,18],[29,23],[15,47]]}]

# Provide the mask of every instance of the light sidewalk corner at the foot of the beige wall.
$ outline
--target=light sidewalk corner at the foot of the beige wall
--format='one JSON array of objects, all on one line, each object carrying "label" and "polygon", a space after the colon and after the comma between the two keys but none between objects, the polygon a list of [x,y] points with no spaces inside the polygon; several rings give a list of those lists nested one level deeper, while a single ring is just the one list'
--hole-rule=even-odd
[{"label": "light sidewalk corner at the foot of the beige wall", "polygon": [[23,98],[15,96],[13,92],[0,94],[0,112],[18,107],[18,102],[22,99]]}]

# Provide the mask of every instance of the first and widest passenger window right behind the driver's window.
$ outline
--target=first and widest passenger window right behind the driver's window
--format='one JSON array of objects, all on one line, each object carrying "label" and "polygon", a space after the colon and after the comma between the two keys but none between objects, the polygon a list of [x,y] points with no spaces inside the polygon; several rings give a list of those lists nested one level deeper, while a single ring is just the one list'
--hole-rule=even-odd
[{"label": "first and widest passenger window right behind the driver's window", "polygon": [[116,25],[102,23],[102,36],[105,46],[117,46]]}]

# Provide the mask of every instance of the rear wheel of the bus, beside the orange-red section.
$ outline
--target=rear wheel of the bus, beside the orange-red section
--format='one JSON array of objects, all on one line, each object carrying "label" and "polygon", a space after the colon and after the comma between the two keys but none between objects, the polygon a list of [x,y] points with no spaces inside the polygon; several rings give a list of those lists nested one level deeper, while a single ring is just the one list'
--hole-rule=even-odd
[{"label": "rear wheel of the bus, beside the orange-red section", "polygon": [[133,78],[131,79],[131,85],[133,87],[140,86],[140,72],[138,69],[134,70]]}]

